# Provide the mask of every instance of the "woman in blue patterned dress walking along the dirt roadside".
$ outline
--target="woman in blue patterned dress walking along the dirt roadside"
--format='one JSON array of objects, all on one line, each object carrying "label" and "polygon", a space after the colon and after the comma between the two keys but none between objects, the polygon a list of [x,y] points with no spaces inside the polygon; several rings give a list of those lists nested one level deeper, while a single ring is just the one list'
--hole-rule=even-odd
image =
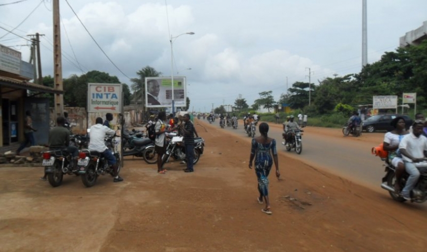
[{"label": "woman in blue patterned dress walking along the dirt roadside", "polygon": [[268,174],[270,173],[273,161],[276,166],[276,177],[280,177],[279,162],[277,159],[276,140],[268,137],[268,124],[259,125],[261,136],[252,139],[251,157],[249,160],[249,169],[252,169],[252,161],[255,157],[255,174],[258,178],[257,197],[259,204],[264,204],[265,208],[261,209],[266,214],[271,214],[270,202],[268,201]]}]

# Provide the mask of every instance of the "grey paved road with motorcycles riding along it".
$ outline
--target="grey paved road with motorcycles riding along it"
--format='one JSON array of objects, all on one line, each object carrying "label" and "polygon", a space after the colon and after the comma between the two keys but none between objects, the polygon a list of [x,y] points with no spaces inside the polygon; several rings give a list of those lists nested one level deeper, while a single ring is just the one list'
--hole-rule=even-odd
[{"label": "grey paved road with motorcycles riding along it", "polygon": [[[212,124],[219,127],[219,120]],[[282,125],[269,125],[268,136],[277,140],[279,151],[287,152],[280,144],[283,140]],[[228,127],[225,127],[225,130],[240,136],[246,135],[241,120],[236,130]],[[381,178],[385,175],[383,162],[371,154],[371,148],[382,143],[383,136],[384,133],[363,133],[361,137],[344,137],[341,129],[306,127],[302,136],[301,154],[296,154],[294,150],[287,153],[309,165],[326,169],[373,189],[383,190],[380,188]]]}]

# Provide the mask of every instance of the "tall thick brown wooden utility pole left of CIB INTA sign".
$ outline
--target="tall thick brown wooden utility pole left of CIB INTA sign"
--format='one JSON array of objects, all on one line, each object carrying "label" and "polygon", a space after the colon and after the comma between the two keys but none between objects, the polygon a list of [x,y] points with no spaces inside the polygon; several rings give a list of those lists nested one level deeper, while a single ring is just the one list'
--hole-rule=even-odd
[{"label": "tall thick brown wooden utility pole left of CIB INTA sign", "polygon": [[[59,0],[52,1],[53,12],[53,81],[54,89],[63,91],[62,57],[61,57],[61,30],[59,20]],[[64,96],[55,94],[55,118],[64,115]]]}]

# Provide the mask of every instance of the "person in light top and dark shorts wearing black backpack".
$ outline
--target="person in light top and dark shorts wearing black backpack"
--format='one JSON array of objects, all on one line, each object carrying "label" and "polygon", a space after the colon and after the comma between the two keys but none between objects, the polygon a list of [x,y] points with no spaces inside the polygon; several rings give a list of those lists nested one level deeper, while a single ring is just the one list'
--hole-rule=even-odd
[{"label": "person in light top and dark shorts wearing black backpack", "polygon": [[155,140],[155,151],[157,152],[157,172],[161,174],[165,174],[166,169],[162,169],[162,156],[166,152],[166,132],[169,132],[169,130],[166,130],[166,124],[164,123],[166,121],[166,113],[165,111],[160,111],[158,115],[158,120],[156,122],[155,126],[155,132],[156,132],[156,140]]}]

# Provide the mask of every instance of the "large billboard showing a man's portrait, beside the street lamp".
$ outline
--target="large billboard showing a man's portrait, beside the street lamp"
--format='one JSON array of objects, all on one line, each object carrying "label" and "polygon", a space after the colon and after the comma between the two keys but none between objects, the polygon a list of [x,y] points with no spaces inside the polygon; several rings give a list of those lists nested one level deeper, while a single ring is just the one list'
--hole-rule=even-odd
[{"label": "large billboard showing a man's portrait, beside the street lamp", "polygon": [[[171,107],[172,81],[171,77],[145,78],[145,106]],[[186,77],[173,77],[173,100],[175,107],[185,107],[186,104]]]}]

